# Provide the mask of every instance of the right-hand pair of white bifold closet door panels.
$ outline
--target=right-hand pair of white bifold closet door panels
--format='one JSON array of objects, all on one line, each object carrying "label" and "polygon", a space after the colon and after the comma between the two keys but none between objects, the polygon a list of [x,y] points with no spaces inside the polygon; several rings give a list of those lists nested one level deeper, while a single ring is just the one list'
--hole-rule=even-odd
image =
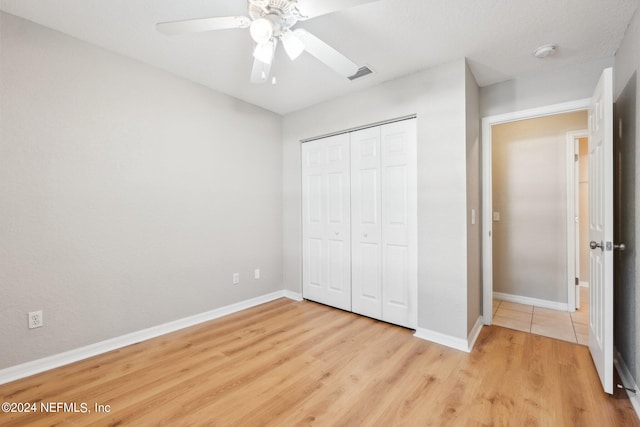
[{"label": "right-hand pair of white bifold closet door panels", "polygon": [[417,327],[415,120],[351,134],[352,310]]}]

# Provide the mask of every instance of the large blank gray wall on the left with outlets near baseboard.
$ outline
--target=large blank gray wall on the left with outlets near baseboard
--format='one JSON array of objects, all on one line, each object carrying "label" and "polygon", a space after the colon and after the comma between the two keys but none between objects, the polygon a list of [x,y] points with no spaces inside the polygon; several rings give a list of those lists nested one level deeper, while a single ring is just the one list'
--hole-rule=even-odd
[{"label": "large blank gray wall on the left with outlets near baseboard", "polygon": [[0,19],[0,368],[282,289],[279,116]]}]

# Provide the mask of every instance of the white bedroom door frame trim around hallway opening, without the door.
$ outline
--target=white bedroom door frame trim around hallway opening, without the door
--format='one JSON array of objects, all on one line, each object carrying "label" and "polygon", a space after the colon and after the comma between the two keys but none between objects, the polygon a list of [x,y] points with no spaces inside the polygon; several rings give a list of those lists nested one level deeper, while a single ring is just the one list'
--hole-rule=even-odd
[{"label": "white bedroom door frame trim around hallway opening, without the door", "polygon": [[[491,325],[493,320],[493,196],[491,193],[493,170],[491,165],[491,128],[494,125],[519,120],[588,110],[590,102],[591,98],[584,98],[482,118],[482,322],[485,325]],[[573,157],[573,149],[571,157]],[[573,181],[573,177],[571,180]]]}]

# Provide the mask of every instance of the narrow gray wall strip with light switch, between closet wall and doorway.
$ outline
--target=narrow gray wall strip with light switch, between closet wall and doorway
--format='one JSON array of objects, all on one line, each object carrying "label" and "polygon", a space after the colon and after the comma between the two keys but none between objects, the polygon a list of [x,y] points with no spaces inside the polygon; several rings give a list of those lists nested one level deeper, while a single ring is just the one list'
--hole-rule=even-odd
[{"label": "narrow gray wall strip with light switch, between closet wall and doorway", "polygon": [[[482,314],[482,176],[480,175],[480,88],[466,67],[467,137],[467,332]],[[475,210],[472,224],[471,210]]]}]

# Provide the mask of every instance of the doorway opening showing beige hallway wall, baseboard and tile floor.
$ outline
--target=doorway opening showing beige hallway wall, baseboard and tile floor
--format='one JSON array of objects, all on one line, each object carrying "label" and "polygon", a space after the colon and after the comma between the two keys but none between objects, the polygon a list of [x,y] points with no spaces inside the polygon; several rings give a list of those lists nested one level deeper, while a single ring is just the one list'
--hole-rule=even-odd
[{"label": "doorway opening showing beige hallway wall, baseboard and tile floor", "polygon": [[575,140],[587,119],[580,110],[492,128],[493,322],[583,344],[587,324],[570,312],[579,295]]}]

